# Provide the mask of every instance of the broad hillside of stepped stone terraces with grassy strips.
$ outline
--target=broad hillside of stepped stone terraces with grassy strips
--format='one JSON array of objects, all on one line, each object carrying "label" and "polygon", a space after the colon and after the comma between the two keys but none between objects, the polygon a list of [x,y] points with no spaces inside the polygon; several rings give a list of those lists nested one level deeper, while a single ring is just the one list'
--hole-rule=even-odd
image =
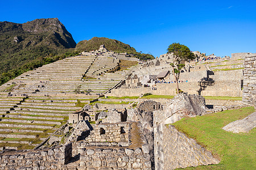
[{"label": "broad hillside of stepped stone terraces with grassy strips", "polygon": [[106,73],[118,62],[117,58],[97,55],[70,57],[3,84],[0,147],[34,148],[42,143],[67,122],[68,113],[108,91],[133,69]]}]

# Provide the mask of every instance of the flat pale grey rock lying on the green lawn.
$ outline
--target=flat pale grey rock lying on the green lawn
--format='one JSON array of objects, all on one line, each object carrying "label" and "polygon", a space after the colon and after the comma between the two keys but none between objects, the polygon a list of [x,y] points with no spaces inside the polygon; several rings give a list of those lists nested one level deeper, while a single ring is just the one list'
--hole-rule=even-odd
[{"label": "flat pale grey rock lying on the green lawn", "polygon": [[256,127],[256,112],[251,113],[242,120],[231,122],[224,126],[222,129],[226,131],[232,131],[233,133],[246,133]]}]

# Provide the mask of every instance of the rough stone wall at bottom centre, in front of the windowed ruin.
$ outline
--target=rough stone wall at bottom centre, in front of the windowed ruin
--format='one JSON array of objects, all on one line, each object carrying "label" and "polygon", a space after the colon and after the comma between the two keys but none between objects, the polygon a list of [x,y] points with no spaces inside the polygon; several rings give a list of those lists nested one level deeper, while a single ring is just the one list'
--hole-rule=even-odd
[{"label": "rough stone wall at bottom centre, in front of the windowed ruin", "polygon": [[81,148],[80,168],[151,169],[148,150],[136,148]]}]

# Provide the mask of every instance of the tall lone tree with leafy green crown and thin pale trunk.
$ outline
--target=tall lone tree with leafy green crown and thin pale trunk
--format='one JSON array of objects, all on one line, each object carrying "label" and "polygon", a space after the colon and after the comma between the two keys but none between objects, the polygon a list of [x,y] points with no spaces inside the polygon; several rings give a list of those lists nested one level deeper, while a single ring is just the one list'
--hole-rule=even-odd
[{"label": "tall lone tree with leafy green crown and thin pale trunk", "polygon": [[167,53],[173,53],[174,61],[170,64],[172,66],[172,73],[174,73],[174,78],[176,81],[176,90],[179,94],[179,78],[180,70],[185,66],[185,61],[190,59],[195,59],[195,55],[190,51],[190,49],[180,43],[172,43],[168,46]]}]

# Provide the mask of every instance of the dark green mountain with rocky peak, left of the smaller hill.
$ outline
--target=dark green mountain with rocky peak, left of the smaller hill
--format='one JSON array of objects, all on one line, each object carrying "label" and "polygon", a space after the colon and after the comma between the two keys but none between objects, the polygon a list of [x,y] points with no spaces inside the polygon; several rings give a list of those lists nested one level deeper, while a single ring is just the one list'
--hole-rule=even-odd
[{"label": "dark green mountain with rocky peak, left of the smaller hill", "polygon": [[73,52],[75,47],[71,33],[57,18],[0,22],[0,84],[45,64],[46,56]]}]

